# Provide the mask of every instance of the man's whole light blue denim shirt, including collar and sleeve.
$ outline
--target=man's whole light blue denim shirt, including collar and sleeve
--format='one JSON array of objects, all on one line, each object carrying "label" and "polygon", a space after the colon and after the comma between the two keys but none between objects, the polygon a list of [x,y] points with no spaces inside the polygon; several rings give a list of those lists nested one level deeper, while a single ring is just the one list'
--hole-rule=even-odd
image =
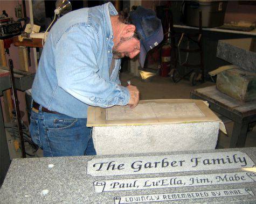
[{"label": "man's whole light blue denim shirt, including collar and sleeve", "polygon": [[73,118],[87,118],[88,105],[128,104],[129,91],[119,85],[121,60],[109,74],[114,15],[114,6],[106,3],[67,13],[53,25],[33,82],[34,101]]}]

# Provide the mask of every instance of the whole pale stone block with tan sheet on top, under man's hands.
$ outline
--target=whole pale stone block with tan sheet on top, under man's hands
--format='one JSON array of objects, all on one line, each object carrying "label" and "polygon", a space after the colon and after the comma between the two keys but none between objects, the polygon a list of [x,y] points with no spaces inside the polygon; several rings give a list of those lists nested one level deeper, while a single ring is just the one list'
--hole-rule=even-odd
[{"label": "whole pale stone block with tan sheet on top, under man's hands", "polygon": [[220,119],[202,100],[140,101],[137,107],[89,107],[98,155],[215,149]]}]

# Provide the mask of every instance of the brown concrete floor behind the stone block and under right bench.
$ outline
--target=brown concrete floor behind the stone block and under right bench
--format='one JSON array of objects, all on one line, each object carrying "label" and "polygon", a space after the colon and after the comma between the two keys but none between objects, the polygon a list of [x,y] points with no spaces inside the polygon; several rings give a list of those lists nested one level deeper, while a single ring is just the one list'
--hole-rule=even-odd
[{"label": "brown concrete floor behind the stone block and under right bench", "polygon": [[[194,89],[204,88],[206,86],[215,85],[213,82],[198,83],[191,86],[189,81],[181,80],[178,83],[172,82],[170,77],[154,76],[149,82],[142,81],[140,77],[135,77],[127,72],[120,73],[122,85],[126,85],[127,81],[140,91],[140,100],[149,99],[189,99],[190,92]],[[217,148],[228,148],[230,136],[232,135],[233,122],[223,121],[227,130],[227,135],[220,132]],[[254,127],[253,127],[254,126]],[[256,126],[251,124],[247,133],[245,147],[256,147]]]}]

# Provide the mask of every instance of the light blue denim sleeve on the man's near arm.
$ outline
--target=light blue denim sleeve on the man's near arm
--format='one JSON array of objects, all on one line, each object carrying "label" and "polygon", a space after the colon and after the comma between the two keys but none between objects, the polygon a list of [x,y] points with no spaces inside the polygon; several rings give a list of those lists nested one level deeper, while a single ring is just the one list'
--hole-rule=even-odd
[{"label": "light blue denim sleeve on the man's near arm", "polygon": [[119,86],[118,81],[106,81],[99,76],[96,60],[100,49],[98,35],[93,28],[84,26],[73,26],[57,42],[58,86],[91,106],[128,104],[127,88]]}]

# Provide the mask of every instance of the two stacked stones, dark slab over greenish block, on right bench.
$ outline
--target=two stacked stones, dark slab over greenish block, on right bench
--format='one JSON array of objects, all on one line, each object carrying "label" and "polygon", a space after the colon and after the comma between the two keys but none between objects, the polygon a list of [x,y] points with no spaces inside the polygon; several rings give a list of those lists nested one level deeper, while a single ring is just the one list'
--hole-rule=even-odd
[{"label": "two stacked stones, dark slab over greenish block, on right bench", "polygon": [[219,40],[217,57],[238,69],[219,73],[216,88],[242,102],[256,100],[256,39]]}]

